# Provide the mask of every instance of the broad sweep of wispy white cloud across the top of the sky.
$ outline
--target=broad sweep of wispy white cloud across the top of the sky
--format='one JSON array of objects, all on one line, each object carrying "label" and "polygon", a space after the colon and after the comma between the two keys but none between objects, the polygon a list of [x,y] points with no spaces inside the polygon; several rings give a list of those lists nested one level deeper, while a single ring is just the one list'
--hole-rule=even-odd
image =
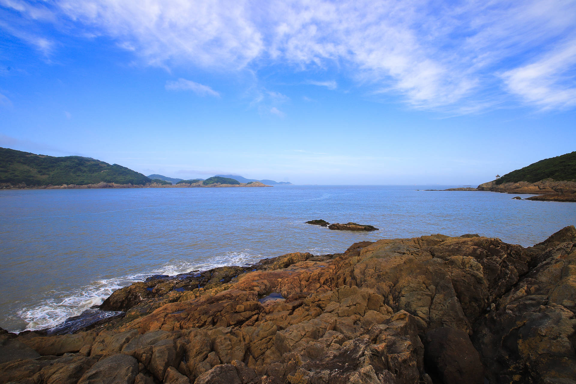
[{"label": "broad sweep of wispy white cloud across the top of the sky", "polygon": [[[26,20],[111,37],[146,64],[236,71],[282,63],[314,75],[336,69],[369,93],[397,95],[414,108],[467,113],[517,96],[566,108],[576,90],[573,0],[0,2]],[[0,28],[54,49],[51,39],[6,20]]]}]

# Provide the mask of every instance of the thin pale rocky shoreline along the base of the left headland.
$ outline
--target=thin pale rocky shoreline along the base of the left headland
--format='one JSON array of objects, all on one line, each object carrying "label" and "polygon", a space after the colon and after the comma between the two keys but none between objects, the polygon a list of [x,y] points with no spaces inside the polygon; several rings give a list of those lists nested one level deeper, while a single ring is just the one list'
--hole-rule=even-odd
[{"label": "thin pale rocky shoreline along the base of the left headland", "polygon": [[39,185],[36,187],[28,187],[25,184],[12,185],[12,184],[0,184],[0,189],[93,189],[93,188],[228,188],[228,187],[272,187],[272,185],[266,185],[260,183],[259,181],[253,181],[252,183],[241,183],[241,184],[209,184],[203,185],[202,182],[194,184],[176,184],[176,185],[166,185],[159,183],[151,183],[148,185],[132,185],[132,184],[115,184],[115,183],[98,183],[98,184],[65,184],[65,185]]}]

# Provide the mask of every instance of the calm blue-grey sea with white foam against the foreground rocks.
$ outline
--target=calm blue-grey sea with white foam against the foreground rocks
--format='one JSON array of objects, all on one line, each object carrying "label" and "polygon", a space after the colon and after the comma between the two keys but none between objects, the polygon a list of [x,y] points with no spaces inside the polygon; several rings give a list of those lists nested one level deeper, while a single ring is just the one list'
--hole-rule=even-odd
[{"label": "calm blue-grey sea with white foam against the foreground rocks", "polygon": [[[54,326],[156,273],[241,265],[288,252],[342,252],[356,241],[434,233],[478,233],[528,246],[576,224],[576,203],[415,191],[426,188],[0,191],[0,326]],[[304,224],[310,219],[380,231],[331,231]]]}]

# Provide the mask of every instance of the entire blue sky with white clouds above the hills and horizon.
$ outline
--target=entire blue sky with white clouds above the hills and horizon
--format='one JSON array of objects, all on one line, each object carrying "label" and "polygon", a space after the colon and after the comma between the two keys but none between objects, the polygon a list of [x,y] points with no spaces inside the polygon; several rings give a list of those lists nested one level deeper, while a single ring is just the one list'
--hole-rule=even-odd
[{"label": "entire blue sky with white clouds above the hills and horizon", "polygon": [[576,1],[0,0],[0,146],[478,184],[576,150]]}]

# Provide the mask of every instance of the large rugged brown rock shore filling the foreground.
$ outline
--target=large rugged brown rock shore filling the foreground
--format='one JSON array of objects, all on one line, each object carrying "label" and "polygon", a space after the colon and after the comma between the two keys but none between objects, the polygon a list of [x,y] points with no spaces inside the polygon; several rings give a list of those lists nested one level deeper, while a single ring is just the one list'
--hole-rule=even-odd
[{"label": "large rugged brown rock shore filling the foreground", "polygon": [[151,276],[74,333],[0,330],[0,383],[576,383],[576,229],[430,235]]}]

